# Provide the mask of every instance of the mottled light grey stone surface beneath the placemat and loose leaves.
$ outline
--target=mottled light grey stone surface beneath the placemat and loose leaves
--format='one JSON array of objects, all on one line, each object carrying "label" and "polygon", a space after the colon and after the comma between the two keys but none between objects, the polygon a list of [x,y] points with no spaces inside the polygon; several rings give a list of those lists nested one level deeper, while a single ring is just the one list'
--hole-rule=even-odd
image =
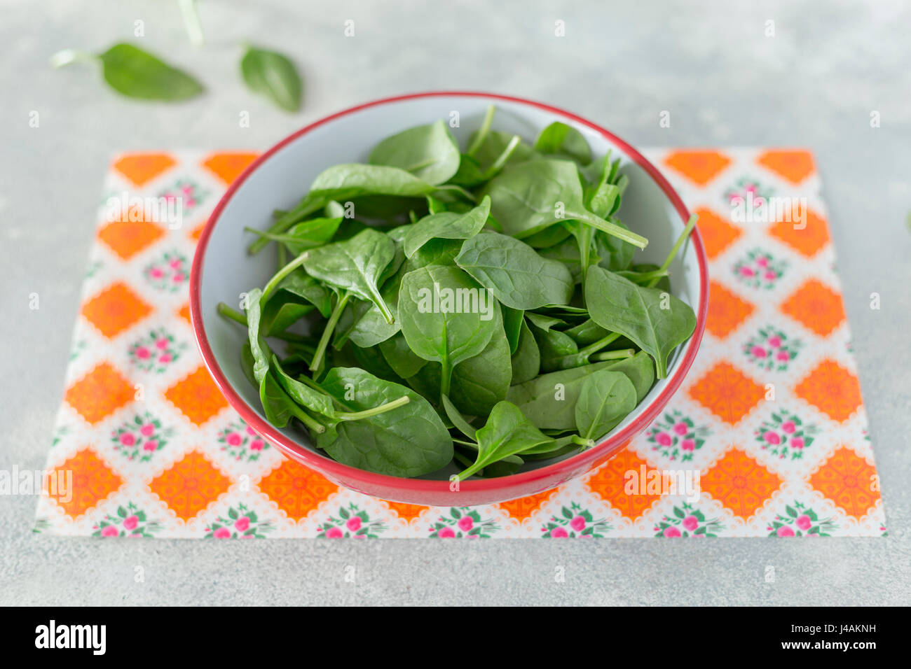
[{"label": "mottled light grey stone surface beneath the placemat and loose leaves", "polygon": [[[40,469],[107,158],[162,147],[270,146],[345,106],[479,89],[565,106],[639,146],[811,147],[854,329],[887,539],[773,542],[97,542],[30,532],[35,499],[0,498],[0,603],[908,603],[911,595],[911,11],[808,6],[201,0],[192,49],[176,3],[0,0],[0,468]],[[610,6],[608,6],[610,5]],[[740,4],[738,4],[740,5]],[[255,9],[254,9],[255,6]],[[52,71],[145,21],[149,49],[197,73],[181,106]],[[343,36],[353,19],[355,36]],[[554,36],[554,22],[567,36]],[[767,20],[775,35],[765,36]],[[237,76],[241,39],[294,56],[305,109],[274,111]],[[40,127],[28,126],[29,113]],[[241,110],[251,127],[238,127]],[[669,110],[671,127],[658,117]],[[871,111],[882,127],[871,128]],[[27,307],[29,293],[41,309]],[[869,296],[882,296],[882,309]],[[145,569],[135,583],[134,567]],[[348,565],[355,583],[345,583]],[[765,583],[766,565],[775,583]],[[556,583],[555,568],[566,569]]]}]

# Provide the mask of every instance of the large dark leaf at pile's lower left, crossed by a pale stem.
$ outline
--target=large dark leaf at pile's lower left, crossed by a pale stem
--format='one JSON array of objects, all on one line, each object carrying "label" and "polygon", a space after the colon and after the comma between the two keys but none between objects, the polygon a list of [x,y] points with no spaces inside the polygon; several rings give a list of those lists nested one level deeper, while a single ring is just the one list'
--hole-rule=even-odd
[{"label": "large dark leaf at pile's lower left, crossed by a pale stem", "polygon": [[366,411],[407,397],[408,403],[359,421],[339,422],[316,436],[334,460],[389,476],[421,476],[445,467],[453,442],[434,408],[414,390],[364,370],[335,367],[320,384],[350,411]]}]

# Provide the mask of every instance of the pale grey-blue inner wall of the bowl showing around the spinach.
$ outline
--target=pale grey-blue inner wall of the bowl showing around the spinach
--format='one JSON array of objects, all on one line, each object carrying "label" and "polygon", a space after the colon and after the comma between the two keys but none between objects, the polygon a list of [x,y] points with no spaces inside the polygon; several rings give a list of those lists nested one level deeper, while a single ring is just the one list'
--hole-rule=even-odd
[{"label": "pale grey-blue inner wall of the bowl showing around the spinach", "polygon": [[[366,162],[370,149],[377,141],[407,127],[430,123],[438,118],[457,119],[458,125],[452,130],[460,146],[465,147],[468,136],[480,125],[486,107],[491,104],[497,107],[494,119],[497,130],[516,133],[534,141],[543,127],[560,120],[578,128],[589,140],[596,157],[607,151],[611,151],[614,157],[620,157],[621,169],[630,177],[630,186],[623,196],[619,218],[650,240],[648,247],[637,253],[636,261],[660,263],[667,256],[684,225],[681,211],[649,172],[630,158],[623,146],[575,117],[523,101],[458,94],[397,99],[332,117],[292,137],[251,170],[222,202],[220,213],[216,213],[217,221],[210,230],[208,244],[201,249],[205,254],[200,276],[201,328],[225,380],[263,421],[265,416],[259,397],[241,370],[240,350],[246,340],[246,332],[236,323],[221,318],[217,312],[219,302],[239,306],[247,290],[261,287],[275,271],[275,245],[256,256],[249,256],[246,249],[254,237],[243,228],[268,228],[272,210],[291,208],[296,204],[312,179],[324,168],[337,163]],[[451,121],[450,126],[453,125]],[[672,292],[698,313],[700,268],[695,248],[690,243],[681,249],[670,271]],[[199,328],[200,324],[196,327]],[[668,384],[685,373],[681,360],[686,350],[697,345],[698,338],[692,338],[675,351],[668,366],[668,378],[657,382],[636,410],[611,434],[635,421]],[[288,428],[281,432],[298,448],[325,458],[312,448],[302,431]],[[536,461],[526,467],[532,469],[550,463],[552,461]],[[448,473],[437,472],[429,478],[445,478]]]}]

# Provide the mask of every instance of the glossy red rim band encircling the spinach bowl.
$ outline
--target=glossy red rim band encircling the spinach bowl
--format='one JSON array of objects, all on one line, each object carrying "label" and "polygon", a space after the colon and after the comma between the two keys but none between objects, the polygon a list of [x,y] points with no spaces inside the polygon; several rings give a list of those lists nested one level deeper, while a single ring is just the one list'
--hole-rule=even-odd
[{"label": "glossy red rim band encircling the spinach bowl", "polygon": [[[388,476],[386,474],[375,474],[371,471],[359,470],[354,467],[342,464],[341,462],[334,461],[331,458],[323,456],[316,451],[310,451],[309,449],[303,448],[301,445],[295,441],[288,439],[288,437],[286,437],[280,431],[273,428],[267,421],[261,419],[260,415],[256,411],[252,411],[247,403],[241,398],[241,396],[238,395],[231,387],[230,382],[222,373],[218,361],[215,360],[215,355],[212,353],[212,350],[210,348],[209,340],[206,337],[206,331],[203,326],[200,304],[202,264],[203,258],[205,258],[206,255],[206,248],[209,243],[211,232],[219,221],[221,211],[225,208],[225,206],[230,201],[230,198],[233,197],[234,192],[241,187],[241,184],[247,179],[247,177],[250,177],[250,175],[276,151],[294,141],[298,137],[306,135],[313,128],[320,127],[326,123],[329,123],[335,118],[347,116],[348,114],[353,114],[353,112],[360,111],[371,106],[379,106],[394,102],[401,102],[403,100],[412,100],[415,98],[435,96],[486,97],[492,100],[516,102],[527,106],[537,107],[537,109],[543,109],[549,113],[572,119],[578,124],[589,127],[592,130],[598,132],[601,136],[609,139],[609,141],[611,141],[616,146],[620,147],[624,153],[630,157],[631,160],[633,160],[637,165],[639,165],[639,167],[649,173],[650,177],[654,179],[655,183],[658,184],[664,194],[670,199],[671,204],[680,214],[681,220],[684,224],[686,224],[690,218],[690,212],[683,204],[680,196],[670,186],[670,183],[668,183],[667,179],[661,175],[658,169],[652,165],[646,157],[642,156],[639,151],[631,147],[630,144],[623,141],[605,128],[600,127],[591,121],[586,120],[585,118],[571,114],[568,111],[560,109],[556,106],[545,105],[543,103],[527,100],[522,97],[502,96],[496,93],[484,93],[481,91],[429,91],[424,93],[413,93],[404,96],[384,97],[379,100],[374,100],[373,102],[364,103],[363,105],[353,106],[348,109],[344,109],[343,111],[337,112],[331,116],[323,117],[307,127],[303,127],[289,137],[282,139],[281,142],[276,144],[274,147],[271,147],[268,151],[254,160],[251,163],[250,167],[247,167],[241,176],[235,179],[233,183],[231,183],[228,191],[220,199],[215,210],[212,212],[209,221],[206,223],[206,227],[202,230],[202,234],[200,235],[200,240],[196,248],[196,253],[193,257],[193,267],[190,270],[189,277],[189,312],[190,320],[193,326],[193,333],[196,336],[196,341],[200,348],[200,353],[202,354],[202,360],[205,362],[206,367],[210,371],[213,380],[215,380],[215,385],[218,386],[219,390],[222,392],[222,394],[224,394],[225,398],[229,401],[234,411],[240,413],[241,418],[246,421],[248,425],[251,425],[254,430],[272,441],[276,446],[279,447],[281,451],[285,451],[288,454],[293,454],[292,459],[303,462],[307,465],[311,465],[314,470],[322,471],[322,473],[325,473],[329,477],[335,477],[342,481],[357,482],[374,489],[383,487],[385,489],[398,489],[407,492],[446,492],[449,490],[449,481],[406,479],[397,476]],[[536,481],[551,479],[555,476],[563,477],[563,480],[566,480],[568,478],[571,478],[572,473],[586,461],[588,461],[590,466],[592,462],[599,460],[599,458],[603,459],[606,455],[609,455],[612,451],[618,450],[619,447],[625,445],[626,441],[648,427],[650,422],[658,416],[660,411],[670,400],[670,397],[674,394],[674,392],[680,388],[681,383],[686,376],[686,373],[690,370],[692,362],[696,358],[696,352],[699,350],[699,344],[702,339],[702,332],[705,329],[706,315],[709,310],[709,271],[708,261],[705,255],[705,247],[702,245],[702,239],[700,237],[698,228],[694,228],[692,231],[691,243],[693,245],[693,249],[696,252],[696,258],[699,262],[700,268],[700,299],[699,309],[697,309],[696,313],[696,329],[687,344],[687,350],[684,354],[683,360],[681,360],[681,369],[676,374],[675,378],[669,382],[668,386],[661,391],[660,395],[655,398],[655,400],[651,401],[646,410],[643,411],[640,416],[636,418],[636,420],[632,421],[623,430],[611,435],[607,440],[601,441],[599,444],[593,448],[588,449],[587,451],[582,451],[578,453],[578,455],[574,455],[573,457],[566,460],[554,462],[553,464],[549,464],[546,467],[541,467],[540,469],[512,474],[511,476],[503,476],[497,479],[461,481],[459,485],[462,492],[503,491],[508,494],[511,489],[517,490],[522,486],[527,487],[529,485],[533,485]]]}]

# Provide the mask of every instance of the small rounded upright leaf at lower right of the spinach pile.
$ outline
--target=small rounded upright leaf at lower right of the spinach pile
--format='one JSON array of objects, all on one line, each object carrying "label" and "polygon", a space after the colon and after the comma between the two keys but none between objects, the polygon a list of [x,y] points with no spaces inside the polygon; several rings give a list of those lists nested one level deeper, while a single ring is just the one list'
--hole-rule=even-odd
[{"label": "small rounded upright leaf at lower right of the spinach pile", "polygon": [[582,381],[576,401],[576,429],[583,439],[598,440],[636,408],[636,389],[619,371],[600,370]]}]

